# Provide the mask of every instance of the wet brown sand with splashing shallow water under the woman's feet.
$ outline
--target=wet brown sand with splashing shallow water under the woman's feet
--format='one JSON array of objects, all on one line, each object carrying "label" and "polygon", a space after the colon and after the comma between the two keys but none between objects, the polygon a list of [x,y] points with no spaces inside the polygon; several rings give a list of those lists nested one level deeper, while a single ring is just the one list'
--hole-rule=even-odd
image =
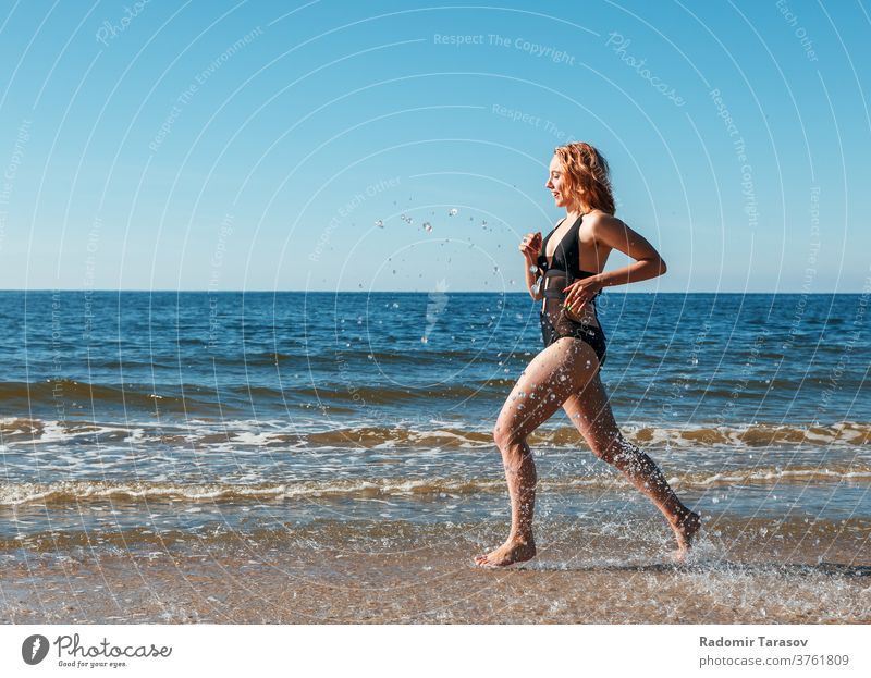
[{"label": "wet brown sand with splashing shallow water under the woman's feet", "polygon": [[[863,525],[771,531],[709,522],[695,562],[675,567],[653,521],[624,534],[566,526],[512,568],[471,557],[504,526],[380,523],[358,540],[293,534],[0,556],[4,624],[868,624]],[[761,525],[761,523],[760,523]],[[720,533],[716,535],[716,533]],[[760,537],[764,532],[764,538]],[[345,532],[346,534],[346,532]],[[652,534],[652,535],[651,535]],[[724,537],[725,534],[725,537]]]}]

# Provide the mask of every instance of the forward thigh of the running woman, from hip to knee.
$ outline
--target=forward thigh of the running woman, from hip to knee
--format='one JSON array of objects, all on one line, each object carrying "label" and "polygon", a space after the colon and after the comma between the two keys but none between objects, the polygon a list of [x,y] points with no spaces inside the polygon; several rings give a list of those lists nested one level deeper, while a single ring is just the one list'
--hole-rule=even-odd
[{"label": "forward thigh of the running woman, from hip to knee", "polygon": [[561,338],[539,353],[512,389],[496,420],[496,436],[523,440],[547,421],[599,369],[593,349]]}]

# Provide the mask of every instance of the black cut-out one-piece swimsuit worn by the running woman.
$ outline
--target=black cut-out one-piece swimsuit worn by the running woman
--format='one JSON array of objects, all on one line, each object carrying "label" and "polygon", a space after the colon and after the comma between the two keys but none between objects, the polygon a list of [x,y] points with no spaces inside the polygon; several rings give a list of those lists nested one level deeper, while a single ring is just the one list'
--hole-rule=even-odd
[{"label": "black cut-out one-piece swimsuit worn by the running woman", "polygon": [[605,362],[606,344],[605,334],[599,322],[599,315],[596,312],[596,297],[589,303],[593,305],[597,324],[577,322],[566,317],[563,312],[563,301],[565,300],[563,288],[568,287],[576,280],[596,275],[596,273],[580,270],[578,231],[582,221],[584,214],[578,217],[578,220],[556,245],[556,249],[553,252],[553,264],[550,267],[548,266],[548,256],[545,254],[548,251],[548,241],[563,223],[562,221],[548,234],[541,244],[542,254],[538,258],[538,268],[544,275],[543,280],[540,281],[544,297],[544,310],[539,312],[541,337],[544,340],[545,346],[550,346],[564,336],[579,338],[592,347],[599,357],[599,365],[601,366]]}]

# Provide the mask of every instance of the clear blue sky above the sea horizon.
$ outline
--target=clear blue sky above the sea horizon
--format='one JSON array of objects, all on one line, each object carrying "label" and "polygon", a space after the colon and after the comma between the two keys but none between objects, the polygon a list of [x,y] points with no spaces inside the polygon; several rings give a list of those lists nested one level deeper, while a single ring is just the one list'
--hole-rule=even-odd
[{"label": "clear blue sky above the sea horizon", "polygon": [[523,291],[568,140],[629,291],[871,285],[867,2],[499,4],[4,0],[0,287]]}]

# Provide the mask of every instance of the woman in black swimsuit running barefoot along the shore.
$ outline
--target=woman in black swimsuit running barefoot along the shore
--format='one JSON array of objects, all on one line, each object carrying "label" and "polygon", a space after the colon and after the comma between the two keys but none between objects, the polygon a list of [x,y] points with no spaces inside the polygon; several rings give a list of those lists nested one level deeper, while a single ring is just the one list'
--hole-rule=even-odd
[{"label": "woman in black swimsuit running barefoot along the shore", "polygon": [[[592,453],[619,469],[663,513],[677,539],[675,556],[683,559],[701,527],[699,516],[680,503],[654,461],[623,437],[599,379],[605,336],[596,296],[610,285],[662,275],[665,262],[650,243],[614,217],[608,162],[589,144],[556,148],[545,185],[566,217],[543,243],[541,233],[528,233],[519,247],[529,294],[542,300],[544,349],[520,374],[493,429],[508,483],[511,533],[504,544],[477,556],[475,563],[499,567],[536,555],[537,477],[526,439],[560,406]],[[612,249],[635,262],[604,272]]]}]

